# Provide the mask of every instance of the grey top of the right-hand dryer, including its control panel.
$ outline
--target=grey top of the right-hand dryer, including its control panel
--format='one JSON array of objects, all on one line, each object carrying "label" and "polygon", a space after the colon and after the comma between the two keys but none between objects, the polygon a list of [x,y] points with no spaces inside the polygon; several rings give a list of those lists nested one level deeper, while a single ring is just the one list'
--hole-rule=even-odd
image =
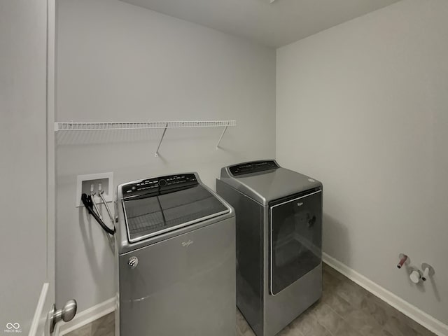
[{"label": "grey top of the right-hand dryer, including its control panel", "polygon": [[321,182],[280,167],[275,160],[224,167],[221,169],[221,181],[263,205],[306,190],[322,188]]}]

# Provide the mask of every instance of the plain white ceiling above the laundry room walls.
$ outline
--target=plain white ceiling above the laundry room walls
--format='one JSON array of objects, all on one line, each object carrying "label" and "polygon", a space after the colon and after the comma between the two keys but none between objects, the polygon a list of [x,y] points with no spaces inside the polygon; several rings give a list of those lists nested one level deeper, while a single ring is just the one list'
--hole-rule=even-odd
[{"label": "plain white ceiling above the laundry room walls", "polygon": [[399,0],[122,0],[280,47]]}]

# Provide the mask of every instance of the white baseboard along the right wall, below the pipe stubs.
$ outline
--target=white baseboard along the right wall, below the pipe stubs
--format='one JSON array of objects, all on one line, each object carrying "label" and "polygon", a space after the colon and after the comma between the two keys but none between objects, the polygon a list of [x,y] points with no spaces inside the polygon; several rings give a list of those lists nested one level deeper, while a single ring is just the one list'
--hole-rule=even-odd
[{"label": "white baseboard along the right wall, below the pipe stubs", "polygon": [[351,281],[358,283],[359,286],[365,288],[373,295],[387,302],[398,311],[401,311],[402,314],[405,314],[417,323],[423,325],[426,329],[434,332],[436,335],[448,336],[448,325],[438,321],[436,318],[433,318],[433,316],[426,314],[424,311],[403,300],[401,297],[398,297],[389,290],[386,290],[386,288],[379,286],[377,283],[367,279],[362,274],[359,274],[355,270],[351,269],[347,265],[344,265],[335,258],[330,257],[330,255],[326,253],[323,253],[323,262],[344,274]]}]

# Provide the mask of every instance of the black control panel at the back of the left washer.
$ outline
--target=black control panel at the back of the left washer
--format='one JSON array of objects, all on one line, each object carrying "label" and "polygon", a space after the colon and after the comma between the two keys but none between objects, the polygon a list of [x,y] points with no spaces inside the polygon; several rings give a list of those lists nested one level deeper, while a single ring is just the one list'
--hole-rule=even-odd
[{"label": "black control panel at the back of the left washer", "polygon": [[147,193],[162,193],[167,190],[195,186],[197,182],[195,174],[176,174],[144,179],[125,184],[122,188],[123,197],[137,196]]}]

